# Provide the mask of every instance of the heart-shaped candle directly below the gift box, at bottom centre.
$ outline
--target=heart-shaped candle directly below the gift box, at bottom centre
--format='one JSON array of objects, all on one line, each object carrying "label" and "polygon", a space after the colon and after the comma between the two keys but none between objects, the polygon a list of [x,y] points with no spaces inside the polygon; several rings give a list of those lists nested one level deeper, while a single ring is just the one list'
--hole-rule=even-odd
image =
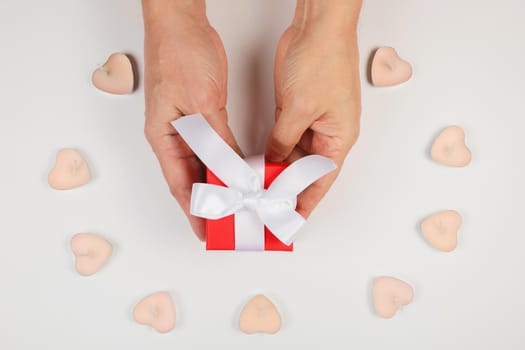
[{"label": "heart-shaped candle directly below the gift box, at bottom centre", "polygon": [[281,315],[264,295],[256,295],[242,309],[239,329],[246,334],[274,334],[281,329]]}]

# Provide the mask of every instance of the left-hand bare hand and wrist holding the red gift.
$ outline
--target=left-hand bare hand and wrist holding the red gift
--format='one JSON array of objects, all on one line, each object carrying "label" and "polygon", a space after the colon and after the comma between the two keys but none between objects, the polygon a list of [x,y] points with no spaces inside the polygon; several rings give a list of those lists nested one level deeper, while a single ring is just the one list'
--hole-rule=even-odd
[{"label": "left-hand bare hand and wrist holding the red gift", "polygon": [[192,184],[205,182],[205,167],[171,122],[200,112],[240,153],[227,125],[226,54],[204,6],[203,0],[143,0],[145,135],[172,195],[201,240],[206,235],[205,221],[191,215],[189,208]]}]

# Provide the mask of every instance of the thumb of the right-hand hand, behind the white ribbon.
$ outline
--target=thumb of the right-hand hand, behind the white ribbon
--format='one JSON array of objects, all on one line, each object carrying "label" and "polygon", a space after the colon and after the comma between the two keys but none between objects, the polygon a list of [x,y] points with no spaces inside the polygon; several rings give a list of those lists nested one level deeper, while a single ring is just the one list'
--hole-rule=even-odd
[{"label": "thumb of the right-hand hand, behind the white ribbon", "polygon": [[292,108],[283,109],[278,113],[268,138],[266,158],[270,162],[282,162],[288,158],[311,123],[309,115]]}]

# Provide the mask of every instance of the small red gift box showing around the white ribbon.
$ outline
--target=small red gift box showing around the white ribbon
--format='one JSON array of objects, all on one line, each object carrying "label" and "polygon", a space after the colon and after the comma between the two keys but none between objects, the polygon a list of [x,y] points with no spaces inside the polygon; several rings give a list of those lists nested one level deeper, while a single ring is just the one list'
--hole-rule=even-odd
[{"label": "small red gift box showing around the white ribbon", "polygon": [[[288,166],[284,163],[266,163],[264,166],[264,188],[267,189],[273,180]],[[206,181],[209,184],[224,186],[215,174],[206,169]],[[235,220],[234,215],[218,220],[206,219],[206,249],[235,250]],[[264,226],[264,250],[292,251],[293,243],[287,246],[275,237]]]}]

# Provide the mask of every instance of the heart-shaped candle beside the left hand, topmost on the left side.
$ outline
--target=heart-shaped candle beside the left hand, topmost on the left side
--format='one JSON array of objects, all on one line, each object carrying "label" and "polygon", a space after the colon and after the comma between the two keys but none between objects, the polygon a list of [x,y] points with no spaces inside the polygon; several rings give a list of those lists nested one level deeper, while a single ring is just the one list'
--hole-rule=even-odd
[{"label": "heart-shaped candle beside the left hand, topmost on the left side", "polygon": [[93,72],[93,85],[110,94],[129,94],[133,91],[133,66],[128,56],[114,53],[106,63]]}]

